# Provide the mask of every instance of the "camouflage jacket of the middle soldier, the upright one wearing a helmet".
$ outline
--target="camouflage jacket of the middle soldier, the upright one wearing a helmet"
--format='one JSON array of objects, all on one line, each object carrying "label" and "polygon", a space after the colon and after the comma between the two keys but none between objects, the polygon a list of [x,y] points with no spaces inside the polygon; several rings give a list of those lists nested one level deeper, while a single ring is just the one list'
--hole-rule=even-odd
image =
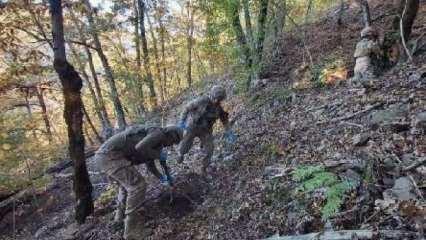
[{"label": "camouflage jacket of the middle soldier, the upright one wearing a helmet", "polygon": [[214,104],[207,96],[189,102],[181,114],[181,120],[186,121],[190,129],[211,131],[217,119],[220,119],[225,128],[228,128],[228,113],[220,104]]}]

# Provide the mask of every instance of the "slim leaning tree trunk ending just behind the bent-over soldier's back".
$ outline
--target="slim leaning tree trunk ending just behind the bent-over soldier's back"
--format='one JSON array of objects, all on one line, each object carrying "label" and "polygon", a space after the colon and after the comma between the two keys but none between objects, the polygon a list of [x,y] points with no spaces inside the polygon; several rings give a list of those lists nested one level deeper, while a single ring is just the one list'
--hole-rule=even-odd
[{"label": "slim leaning tree trunk ending just behind the bent-over soldier's back", "polygon": [[123,106],[121,105],[120,98],[118,97],[118,91],[115,85],[114,74],[112,72],[111,66],[108,63],[108,59],[102,50],[102,44],[101,44],[101,41],[99,40],[99,36],[95,27],[95,19],[93,18],[92,6],[90,5],[89,0],[84,0],[84,4],[86,5],[87,20],[89,22],[89,31],[90,31],[90,34],[92,35],[93,42],[96,47],[96,51],[101,60],[102,66],[105,71],[105,76],[111,90],[111,100],[114,104],[114,110],[115,110],[115,115],[117,118],[118,128],[119,130],[124,130],[126,128],[126,119],[124,116]]}]

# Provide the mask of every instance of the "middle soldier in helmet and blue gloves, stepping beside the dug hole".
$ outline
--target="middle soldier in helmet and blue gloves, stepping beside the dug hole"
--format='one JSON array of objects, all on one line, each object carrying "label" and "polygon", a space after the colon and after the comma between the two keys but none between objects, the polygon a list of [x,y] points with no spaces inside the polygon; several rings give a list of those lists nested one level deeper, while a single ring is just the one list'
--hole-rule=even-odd
[{"label": "middle soldier in helmet and blue gloves, stepping beside the dug hole", "polygon": [[223,110],[221,102],[226,99],[226,91],[221,86],[214,86],[208,96],[201,96],[189,102],[180,117],[179,127],[185,129],[183,140],[179,145],[178,162],[182,163],[184,155],[191,149],[194,139],[201,140],[201,147],[206,156],[202,160],[201,172],[206,174],[214,151],[213,125],[220,119],[225,128],[225,139],[235,141],[236,136],[230,129],[228,113]]}]

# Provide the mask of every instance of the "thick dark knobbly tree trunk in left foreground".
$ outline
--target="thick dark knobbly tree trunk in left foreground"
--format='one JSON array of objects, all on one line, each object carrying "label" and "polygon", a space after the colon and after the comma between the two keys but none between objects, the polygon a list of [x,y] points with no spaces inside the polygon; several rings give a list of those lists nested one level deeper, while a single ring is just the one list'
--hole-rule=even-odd
[{"label": "thick dark knobbly tree trunk in left foreground", "polygon": [[78,223],[85,222],[93,213],[92,184],[86,167],[84,154],[83,113],[80,91],[82,80],[65,54],[62,1],[50,0],[53,36],[53,67],[59,75],[64,94],[64,118],[68,129],[69,155],[74,162],[74,191],[76,197],[75,217]]}]

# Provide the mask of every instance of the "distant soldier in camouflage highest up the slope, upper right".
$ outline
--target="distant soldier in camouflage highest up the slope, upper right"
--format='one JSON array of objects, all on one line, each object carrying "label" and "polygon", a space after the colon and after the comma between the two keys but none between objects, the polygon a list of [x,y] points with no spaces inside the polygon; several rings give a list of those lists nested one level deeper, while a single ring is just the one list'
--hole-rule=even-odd
[{"label": "distant soldier in camouflage highest up the slope, upper right", "polygon": [[365,27],[361,31],[361,41],[356,45],[354,53],[356,60],[352,81],[355,85],[368,84],[376,76],[378,69],[376,63],[380,55],[377,31],[373,27]]}]

